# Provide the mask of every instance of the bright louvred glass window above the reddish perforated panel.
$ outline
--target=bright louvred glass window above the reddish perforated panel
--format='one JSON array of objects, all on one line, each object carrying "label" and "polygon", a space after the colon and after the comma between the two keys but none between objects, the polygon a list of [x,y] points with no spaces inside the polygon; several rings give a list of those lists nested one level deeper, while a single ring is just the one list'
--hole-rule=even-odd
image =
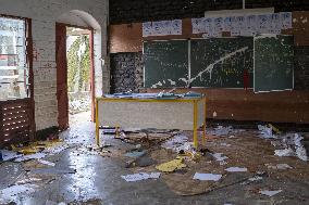
[{"label": "bright louvred glass window above the reddish perforated panel", "polygon": [[29,98],[26,22],[0,17],[0,101]]}]

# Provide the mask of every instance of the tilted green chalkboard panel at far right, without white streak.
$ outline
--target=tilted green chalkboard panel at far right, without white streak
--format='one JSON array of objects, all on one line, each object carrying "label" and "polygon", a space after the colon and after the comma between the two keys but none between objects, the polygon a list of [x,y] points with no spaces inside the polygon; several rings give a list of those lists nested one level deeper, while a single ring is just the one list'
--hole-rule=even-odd
[{"label": "tilted green chalkboard panel at far right, without white streak", "polygon": [[293,88],[293,36],[255,37],[255,92]]}]

